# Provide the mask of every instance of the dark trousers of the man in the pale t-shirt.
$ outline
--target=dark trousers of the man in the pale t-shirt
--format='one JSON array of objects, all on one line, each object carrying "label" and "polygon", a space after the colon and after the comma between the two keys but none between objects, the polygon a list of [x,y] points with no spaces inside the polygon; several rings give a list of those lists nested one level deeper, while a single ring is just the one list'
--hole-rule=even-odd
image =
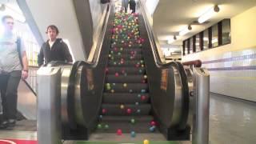
[{"label": "dark trousers of the man in the pale t-shirt", "polygon": [[16,119],[18,84],[22,71],[14,70],[8,74],[0,74],[0,91],[2,98],[2,116],[4,120]]}]

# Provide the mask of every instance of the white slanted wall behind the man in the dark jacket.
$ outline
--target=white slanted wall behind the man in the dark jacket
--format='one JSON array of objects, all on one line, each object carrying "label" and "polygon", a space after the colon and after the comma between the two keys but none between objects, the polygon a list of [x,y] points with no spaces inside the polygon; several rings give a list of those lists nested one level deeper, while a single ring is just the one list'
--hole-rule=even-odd
[{"label": "white slanted wall behind the man in the dark jacket", "polygon": [[44,40],[46,27],[54,24],[60,30],[59,38],[70,42],[70,49],[75,60],[86,60],[78,21],[70,0],[26,0],[33,18]]}]

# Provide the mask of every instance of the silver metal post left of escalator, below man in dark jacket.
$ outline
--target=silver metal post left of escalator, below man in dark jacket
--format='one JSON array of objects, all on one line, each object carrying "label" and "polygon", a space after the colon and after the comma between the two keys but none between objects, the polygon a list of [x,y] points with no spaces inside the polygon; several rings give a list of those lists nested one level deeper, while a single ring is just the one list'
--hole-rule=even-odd
[{"label": "silver metal post left of escalator, below man in dark jacket", "polygon": [[38,144],[61,144],[60,67],[38,70]]}]

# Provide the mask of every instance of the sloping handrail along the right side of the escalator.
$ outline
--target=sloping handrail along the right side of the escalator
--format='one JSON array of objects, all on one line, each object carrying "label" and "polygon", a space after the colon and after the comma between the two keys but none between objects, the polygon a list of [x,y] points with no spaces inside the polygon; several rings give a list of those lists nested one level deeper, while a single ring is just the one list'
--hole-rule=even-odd
[{"label": "sloping handrail along the right side of the escalator", "polygon": [[154,61],[156,62],[156,64],[158,66],[162,66],[162,65],[166,64],[165,58],[163,57],[162,51],[160,50],[160,44],[158,42],[157,36],[154,34],[153,27],[150,26],[149,18],[148,18],[148,15],[146,14],[146,10],[145,10],[146,6],[144,5],[143,2],[141,2],[141,0],[139,0],[138,3],[140,6],[142,17],[144,18],[146,32],[149,36],[150,47],[151,47],[152,51],[154,52]]}]

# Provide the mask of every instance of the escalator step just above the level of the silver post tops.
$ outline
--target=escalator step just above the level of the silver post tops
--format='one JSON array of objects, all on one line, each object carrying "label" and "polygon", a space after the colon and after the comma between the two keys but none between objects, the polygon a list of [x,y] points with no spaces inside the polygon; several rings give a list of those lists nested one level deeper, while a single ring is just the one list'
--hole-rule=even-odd
[{"label": "escalator step just above the level of the silver post tops", "polygon": [[144,61],[132,60],[132,61],[114,61],[110,60],[108,66],[134,66],[134,67],[143,67]]}]

